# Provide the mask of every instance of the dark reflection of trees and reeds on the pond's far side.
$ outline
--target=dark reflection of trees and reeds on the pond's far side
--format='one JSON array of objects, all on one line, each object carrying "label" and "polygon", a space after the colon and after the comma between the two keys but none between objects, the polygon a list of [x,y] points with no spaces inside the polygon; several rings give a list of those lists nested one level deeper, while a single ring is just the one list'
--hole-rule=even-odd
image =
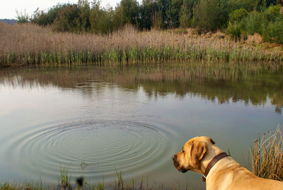
[{"label": "dark reflection of trees and reeds on the pond's far side", "polygon": [[[149,98],[174,93],[200,96],[219,104],[241,101],[253,106],[264,106],[267,98],[281,114],[283,107],[282,66],[260,64],[171,63],[115,66],[37,67],[9,69],[0,73],[4,85],[55,86],[60,89],[81,89],[92,96],[100,90],[93,81],[105,81],[137,91],[139,86]],[[86,83],[87,82],[87,83]],[[83,88],[80,88],[84,85]],[[88,86],[86,86],[88,85]]]}]

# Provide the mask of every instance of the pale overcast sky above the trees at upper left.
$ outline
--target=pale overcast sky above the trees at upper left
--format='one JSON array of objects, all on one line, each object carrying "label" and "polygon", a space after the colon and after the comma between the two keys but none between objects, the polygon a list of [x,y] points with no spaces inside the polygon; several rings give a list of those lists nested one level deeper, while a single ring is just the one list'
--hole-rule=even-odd
[{"label": "pale overcast sky above the trees at upper left", "polygon": [[[33,14],[33,11],[40,8],[40,10],[48,9],[57,3],[68,3],[76,4],[79,0],[4,0],[1,1],[0,6],[0,19],[8,18],[8,19],[16,19],[16,10],[21,13],[21,11],[25,11],[29,16]],[[113,8],[116,4],[120,2],[120,0],[102,0],[101,6],[106,6],[110,4]]]}]

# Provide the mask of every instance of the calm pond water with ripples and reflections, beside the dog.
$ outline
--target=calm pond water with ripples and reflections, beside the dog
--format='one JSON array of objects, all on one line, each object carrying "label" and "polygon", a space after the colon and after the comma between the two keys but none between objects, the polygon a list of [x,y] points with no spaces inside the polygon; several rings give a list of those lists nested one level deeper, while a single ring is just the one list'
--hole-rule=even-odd
[{"label": "calm pond water with ripples and reflections, beside the dog", "polygon": [[[280,65],[185,63],[5,68],[0,71],[0,179],[131,182],[205,189],[171,157],[211,137],[248,164],[258,133],[283,121]],[[146,182],[144,182],[146,184]]]}]

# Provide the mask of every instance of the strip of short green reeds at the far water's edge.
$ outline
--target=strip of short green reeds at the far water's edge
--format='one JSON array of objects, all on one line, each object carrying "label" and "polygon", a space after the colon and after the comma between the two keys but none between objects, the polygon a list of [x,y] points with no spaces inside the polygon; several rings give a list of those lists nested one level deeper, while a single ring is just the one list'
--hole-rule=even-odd
[{"label": "strip of short green reeds at the far water's edge", "polygon": [[164,60],[205,60],[205,61],[277,61],[282,62],[283,55],[263,55],[260,51],[248,51],[241,49],[233,50],[213,50],[209,47],[197,49],[180,49],[179,47],[136,47],[132,46],[129,50],[101,50],[100,52],[90,52],[74,49],[65,52],[40,52],[17,55],[11,52],[0,57],[1,65],[12,64],[79,64],[87,62],[137,62],[137,61],[164,61]]}]

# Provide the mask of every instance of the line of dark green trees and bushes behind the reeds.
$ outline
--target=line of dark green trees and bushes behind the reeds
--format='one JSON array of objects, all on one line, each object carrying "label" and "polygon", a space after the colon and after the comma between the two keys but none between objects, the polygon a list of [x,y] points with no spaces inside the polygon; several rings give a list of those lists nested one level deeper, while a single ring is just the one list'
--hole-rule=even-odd
[{"label": "line of dark green trees and bushes behind the reeds", "polygon": [[[58,32],[100,34],[111,33],[126,24],[139,30],[192,27],[204,33],[227,28],[232,38],[238,39],[245,33],[264,33],[261,29],[247,30],[248,19],[250,23],[260,20],[255,28],[266,28],[270,22],[279,26],[283,22],[282,5],[282,0],[142,0],[141,4],[137,0],[122,0],[112,8],[101,7],[100,0],[79,0],[77,4],[54,5],[47,11],[37,9],[32,16],[17,13],[17,21],[50,25]],[[282,27],[279,28],[283,34]]]}]

